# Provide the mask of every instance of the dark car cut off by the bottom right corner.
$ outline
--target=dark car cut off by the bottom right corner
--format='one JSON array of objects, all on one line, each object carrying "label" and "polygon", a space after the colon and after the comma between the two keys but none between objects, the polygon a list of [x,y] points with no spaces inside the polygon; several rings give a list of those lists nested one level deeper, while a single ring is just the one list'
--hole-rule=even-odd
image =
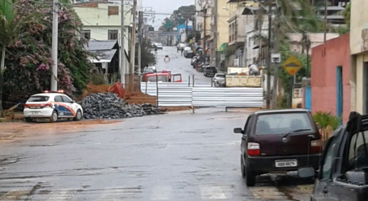
[{"label": "dark car cut off by the bottom right corner", "polygon": [[[311,201],[367,201],[367,122],[368,115],[351,112],[349,121],[330,136],[321,155]],[[315,170],[300,168],[298,175],[315,176]]]}]

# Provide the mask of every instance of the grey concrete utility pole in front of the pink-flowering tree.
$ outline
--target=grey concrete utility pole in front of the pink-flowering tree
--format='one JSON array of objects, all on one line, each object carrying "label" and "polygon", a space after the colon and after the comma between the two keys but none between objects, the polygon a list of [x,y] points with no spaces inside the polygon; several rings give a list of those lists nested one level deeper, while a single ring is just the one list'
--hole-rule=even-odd
[{"label": "grey concrete utility pole in front of the pink-flowering tree", "polygon": [[58,24],[59,24],[59,0],[53,0],[53,39],[52,51],[53,67],[51,75],[51,91],[57,91],[57,42],[58,42]]}]

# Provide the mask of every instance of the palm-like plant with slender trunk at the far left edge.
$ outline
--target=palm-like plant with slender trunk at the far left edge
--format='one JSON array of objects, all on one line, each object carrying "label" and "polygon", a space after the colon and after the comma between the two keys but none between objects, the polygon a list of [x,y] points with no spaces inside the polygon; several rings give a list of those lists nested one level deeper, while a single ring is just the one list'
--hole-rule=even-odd
[{"label": "palm-like plant with slender trunk at the far left edge", "polygon": [[0,112],[2,109],[2,88],[4,81],[5,67],[5,51],[6,48],[13,44],[19,36],[22,24],[22,16],[18,15],[18,9],[13,4],[13,0],[0,1],[0,50],[1,50],[1,65],[0,65]]}]

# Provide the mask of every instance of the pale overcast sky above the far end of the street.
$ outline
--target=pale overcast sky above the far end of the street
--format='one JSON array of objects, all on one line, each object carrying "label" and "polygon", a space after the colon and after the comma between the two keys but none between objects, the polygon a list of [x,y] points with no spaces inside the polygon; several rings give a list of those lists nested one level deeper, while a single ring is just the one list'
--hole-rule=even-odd
[{"label": "pale overcast sky above the far end of the street", "polygon": [[[162,15],[162,14],[171,14],[174,10],[178,9],[183,5],[193,5],[194,0],[143,0],[143,7],[152,7],[152,10],[157,14],[155,15],[155,28],[158,28],[162,20],[166,17],[170,17],[170,15]],[[159,14],[162,13],[162,14]],[[152,25],[152,21],[150,22]]]}]

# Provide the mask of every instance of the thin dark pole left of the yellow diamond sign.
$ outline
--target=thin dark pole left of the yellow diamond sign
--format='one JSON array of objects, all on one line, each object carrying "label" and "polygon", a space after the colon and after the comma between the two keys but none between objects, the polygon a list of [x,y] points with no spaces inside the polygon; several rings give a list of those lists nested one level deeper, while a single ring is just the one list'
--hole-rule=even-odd
[{"label": "thin dark pole left of the yellow diamond sign", "polygon": [[267,52],[267,94],[266,94],[266,108],[270,109],[271,98],[271,24],[272,24],[272,1],[268,5],[268,52]]}]

